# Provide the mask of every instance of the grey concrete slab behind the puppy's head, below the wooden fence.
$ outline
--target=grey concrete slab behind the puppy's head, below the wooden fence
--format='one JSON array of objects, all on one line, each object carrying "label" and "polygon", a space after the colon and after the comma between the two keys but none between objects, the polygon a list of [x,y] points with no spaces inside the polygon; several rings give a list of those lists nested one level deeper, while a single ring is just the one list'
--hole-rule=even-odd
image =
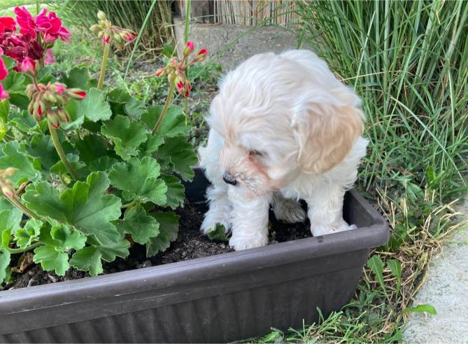
[{"label": "grey concrete slab behind the puppy's head, below the wooden fence", "polygon": [[[184,30],[185,22],[175,18],[174,32],[179,53],[183,48]],[[281,53],[297,48],[296,36],[281,27],[190,23],[190,39],[194,41],[196,50],[208,49],[209,58],[219,55],[215,60],[220,62],[223,71],[234,69],[247,57],[257,53]]]}]

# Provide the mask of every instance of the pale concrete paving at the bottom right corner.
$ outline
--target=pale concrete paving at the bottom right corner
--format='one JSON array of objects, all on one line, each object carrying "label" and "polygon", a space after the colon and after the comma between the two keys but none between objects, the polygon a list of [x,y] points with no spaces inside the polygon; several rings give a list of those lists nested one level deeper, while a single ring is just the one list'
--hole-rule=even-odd
[{"label": "pale concrete paving at the bottom right corner", "polygon": [[[468,199],[460,209],[468,216]],[[437,315],[412,313],[406,343],[468,343],[468,228],[453,235],[433,257],[413,305],[430,304]]]}]

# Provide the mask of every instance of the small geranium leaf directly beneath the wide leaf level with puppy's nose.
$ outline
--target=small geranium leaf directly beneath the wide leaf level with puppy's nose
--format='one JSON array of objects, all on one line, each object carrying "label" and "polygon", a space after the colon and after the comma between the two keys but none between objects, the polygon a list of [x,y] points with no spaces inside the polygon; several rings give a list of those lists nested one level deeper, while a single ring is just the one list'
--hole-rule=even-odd
[{"label": "small geranium leaf directly beneath the wide leaf level with puppy's nose", "polygon": [[117,227],[120,233],[132,235],[132,239],[142,245],[159,234],[159,223],[140,205],[127,209],[124,219],[118,220]]}]

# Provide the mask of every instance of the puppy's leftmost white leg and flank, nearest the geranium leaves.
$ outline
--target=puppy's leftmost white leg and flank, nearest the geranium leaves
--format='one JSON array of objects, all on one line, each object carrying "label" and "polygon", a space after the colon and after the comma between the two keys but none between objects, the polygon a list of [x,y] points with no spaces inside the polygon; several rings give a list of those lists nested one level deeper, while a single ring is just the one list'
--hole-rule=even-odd
[{"label": "puppy's leftmost white leg and flank, nearest the geranium leaves", "polygon": [[201,223],[201,231],[204,234],[214,229],[217,223],[229,231],[232,205],[227,197],[227,184],[222,180],[222,172],[218,165],[223,144],[222,137],[211,130],[206,147],[199,149],[200,166],[204,167],[206,178],[211,181],[211,186],[206,190],[209,209]]}]

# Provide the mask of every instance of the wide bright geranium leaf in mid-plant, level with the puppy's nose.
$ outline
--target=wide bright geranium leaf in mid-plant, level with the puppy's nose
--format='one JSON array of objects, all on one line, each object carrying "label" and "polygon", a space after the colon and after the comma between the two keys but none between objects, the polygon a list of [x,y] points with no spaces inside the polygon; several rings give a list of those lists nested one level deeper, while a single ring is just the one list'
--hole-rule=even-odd
[{"label": "wide bright geranium leaf in mid-plant, level with the puppy's nose", "polygon": [[159,170],[157,161],[149,156],[141,160],[132,158],[127,163],[113,165],[109,178],[113,186],[123,191],[125,200],[164,205],[167,186],[164,181],[157,179]]}]

